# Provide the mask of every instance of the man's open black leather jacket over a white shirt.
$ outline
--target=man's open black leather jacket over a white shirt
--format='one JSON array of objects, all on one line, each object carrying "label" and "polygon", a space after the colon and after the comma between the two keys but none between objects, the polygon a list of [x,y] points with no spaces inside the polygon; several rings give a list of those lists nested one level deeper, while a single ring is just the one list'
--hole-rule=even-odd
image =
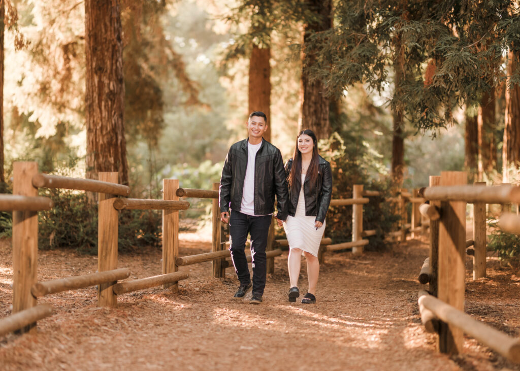
[{"label": "man's open black leather jacket over a white shirt", "polygon": [[[248,139],[231,145],[224,161],[218,200],[221,213],[229,211],[229,206],[240,211],[245,170],[248,167]],[[255,215],[274,213],[275,195],[278,208],[276,217],[285,220],[288,192],[282,155],[278,148],[264,139],[255,157]]]}]

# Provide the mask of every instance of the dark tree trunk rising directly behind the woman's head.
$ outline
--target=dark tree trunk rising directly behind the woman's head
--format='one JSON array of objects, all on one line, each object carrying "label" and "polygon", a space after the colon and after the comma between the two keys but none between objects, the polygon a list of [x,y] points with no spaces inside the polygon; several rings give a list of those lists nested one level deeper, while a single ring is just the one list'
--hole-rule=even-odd
[{"label": "dark tree trunk rising directly behind the woman's head", "polygon": [[311,81],[309,70],[316,56],[306,50],[305,45],[313,33],[326,31],[332,27],[332,1],[311,0],[308,3],[319,20],[307,23],[304,30],[300,128],[313,130],[320,139],[328,138],[331,134],[329,99],[325,94],[323,83],[318,79]]}]

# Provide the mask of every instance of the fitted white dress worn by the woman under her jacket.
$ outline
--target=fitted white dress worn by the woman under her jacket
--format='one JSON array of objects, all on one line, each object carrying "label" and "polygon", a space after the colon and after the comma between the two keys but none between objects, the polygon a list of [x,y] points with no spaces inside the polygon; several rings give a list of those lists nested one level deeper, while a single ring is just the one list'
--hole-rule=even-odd
[{"label": "fitted white dress worn by the woman under her jacket", "polygon": [[[289,241],[289,248],[299,248],[314,256],[318,256],[318,249],[320,248],[321,238],[325,231],[325,221],[323,226],[316,230],[314,226],[316,216],[305,215],[305,195],[303,193],[303,182],[305,181],[305,174],[302,174],[302,188],[298,196],[298,205],[294,216],[288,216],[283,223],[283,229]],[[302,253],[303,254],[303,253]]]}]

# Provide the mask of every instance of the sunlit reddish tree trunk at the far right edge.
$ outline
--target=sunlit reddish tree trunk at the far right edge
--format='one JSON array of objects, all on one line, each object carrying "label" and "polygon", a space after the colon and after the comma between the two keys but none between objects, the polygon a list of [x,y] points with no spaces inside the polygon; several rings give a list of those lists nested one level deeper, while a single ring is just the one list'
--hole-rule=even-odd
[{"label": "sunlit reddish tree trunk at the far right edge", "polygon": [[[508,76],[518,68],[520,56],[509,52]],[[508,77],[508,80],[511,77]],[[509,82],[508,82],[509,85]],[[502,182],[509,183],[509,169],[520,168],[520,86],[505,89],[505,126],[502,147]]]}]

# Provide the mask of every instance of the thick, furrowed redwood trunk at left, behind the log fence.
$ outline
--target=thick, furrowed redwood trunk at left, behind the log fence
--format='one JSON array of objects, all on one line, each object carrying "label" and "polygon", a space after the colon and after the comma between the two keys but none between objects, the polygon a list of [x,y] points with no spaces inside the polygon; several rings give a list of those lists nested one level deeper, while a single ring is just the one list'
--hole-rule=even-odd
[{"label": "thick, furrowed redwood trunk at left, behind the log fence", "polygon": [[128,184],[118,0],[85,0],[87,178],[118,171]]}]

